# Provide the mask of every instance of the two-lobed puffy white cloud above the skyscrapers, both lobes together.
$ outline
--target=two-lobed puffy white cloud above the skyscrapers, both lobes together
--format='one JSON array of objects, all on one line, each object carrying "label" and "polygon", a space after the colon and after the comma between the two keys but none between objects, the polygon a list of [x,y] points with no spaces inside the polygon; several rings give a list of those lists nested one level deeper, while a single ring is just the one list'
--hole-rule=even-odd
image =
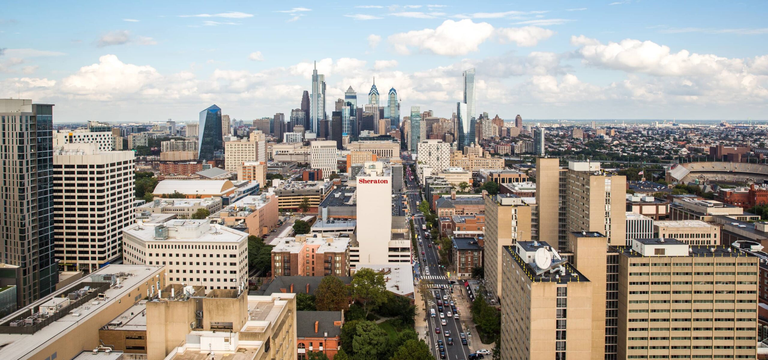
[{"label": "two-lobed puffy white cloud above the skyscrapers, both lobes together", "polygon": [[478,51],[478,46],[492,36],[502,42],[515,42],[518,46],[534,46],[538,41],[554,35],[554,31],[525,26],[522,28],[494,28],[487,22],[475,23],[470,19],[446,20],[437,28],[425,28],[390,35],[389,43],[400,54],[410,54],[411,48],[434,54],[458,56]]}]

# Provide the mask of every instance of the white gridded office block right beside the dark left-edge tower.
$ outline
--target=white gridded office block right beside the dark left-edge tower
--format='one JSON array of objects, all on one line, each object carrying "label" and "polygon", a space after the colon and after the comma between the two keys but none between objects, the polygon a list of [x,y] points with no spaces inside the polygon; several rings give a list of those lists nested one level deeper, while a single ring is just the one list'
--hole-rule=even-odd
[{"label": "white gridded office block right beside the dark left-edge tower", "polygon": [[65,144],[53,163],[56,258],[68,271],[97,270],[120,255],[121,230],[136,216],[134,152]]}]

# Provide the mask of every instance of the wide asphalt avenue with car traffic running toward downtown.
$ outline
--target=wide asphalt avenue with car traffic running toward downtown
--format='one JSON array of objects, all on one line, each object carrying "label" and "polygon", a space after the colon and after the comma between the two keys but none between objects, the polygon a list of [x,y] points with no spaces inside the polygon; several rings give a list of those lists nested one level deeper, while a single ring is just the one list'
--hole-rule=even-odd
[{"label": "wide asphalt avenue with car traffic running toward downtown", "polygon": [[[406,174],[407,173],[408,170],[406,170]],[[445,271],[439,266],[439,253],[436,245],[432,243],[432,239],[425,238],[425,231],[422,230],[422,225],[425,220],[422,216],[419,216],[419,203],[422,199],[419,197],[418,184],[410,180],[410,176],[407,177],[407,182],[409,207],[414,212],[412,215],[415,215],[413,226],[420,239],[420,245],[417,252],[419,256],[417,276],[419,279],[424,279],[425,281],[432,283],[430,289],[432,297],[428,301],[428,307],[429,309],[435,309],[435,317],[427,315],[427,324],[429,326],[427,339],[429,339],[429,346],[432,348],[432,354],[435,355],[435,358],[441,358],[438,340],[442,340],[446,359],[465,360],[472,352],[467,345],[462,345],[462,339],[459,338],[459,333],[463,332],[461,321],[455,319],[455,316],[448,316],[448,312],[452,312],[450,305],[447,307],[443,306],[444,311],[442,314],[444,314],[445,317],[440,317],[441,312],[439,312],[435,296],[439,297],[442,302],[455,302],[454,293],[451,289],[439,289],[439,286],[449,287],[449,279],[448,276],[446,276]],[[432,245],[432,247],[429,245]],[[452,288],[457,292],[457,296],[460,286],[462,285],[455,285]],[[443,296],[445,296],[447,300],[443,300]],[[416,299],[416,301],[418,306],[422,306],[421,299]],[[426,311],[427,314],[430,312],[429,309]],[[461,316],[470,316],[469,309],[459,308],[458,310],[461,312]],[[442,319],[445,319],[445,325],[441,325]],[[435,329],[439,329],[440,333],[435,333]],[[445,336],[446,332],[450,335]],[[447,345],[447,340],[449,338],[453,339],[453,345]],[[472,336],[467,336],[467,339],[471,342]]]}]

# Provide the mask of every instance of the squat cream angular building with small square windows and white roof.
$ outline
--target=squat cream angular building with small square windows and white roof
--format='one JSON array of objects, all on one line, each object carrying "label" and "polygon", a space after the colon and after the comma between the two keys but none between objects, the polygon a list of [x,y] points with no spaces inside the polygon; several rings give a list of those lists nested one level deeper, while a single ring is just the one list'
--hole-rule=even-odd
[{"label": "squat cream angular building with small square windows and white roof", "polygon": [[136,223],[123,230],[123,261],[167,266],[169,283],[237,289],[248,276],[247,238],[210,220]]}]

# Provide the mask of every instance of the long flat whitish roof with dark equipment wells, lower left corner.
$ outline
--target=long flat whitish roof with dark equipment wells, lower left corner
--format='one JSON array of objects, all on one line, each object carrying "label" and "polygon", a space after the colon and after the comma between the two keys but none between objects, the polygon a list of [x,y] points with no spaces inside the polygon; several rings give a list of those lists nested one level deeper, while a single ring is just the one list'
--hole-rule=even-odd
[{"label": "long flat whitish roof with dark equipment wells, lower left corner", "polygon": [[149,279],[154,277],[154,275],[156,275],[157,272],[159,272],[162,268],[163,266],[122,264],[104,266],[103,268],[98,269],[98,271],[92,272],[91,275],[85,276],[83,279],[79,279],[77,282],[74,282],[71,286],[67,286],[65,289],[58,290],[57,292],[54,292],[53,294],[33,302],[29,306],[25,306],[24,308],[12,313],[11,315],[6,316],[3,321],[0,322],[0,325],[5,325],[11,319],[16,319],[19,316],[29,314],[31,309],[34,309],[35,312],[38,312],[39,306],[45,302],[49,302],[54,298],[61,298],[61,296],[66,296],[74,290],[82,289],[84,283],[94,284],[94,282],[99,282],[98,280],[101,278],[101,276],[108,274],[118,274],[121,272],[125,274],[125,276],[121,278],[121,286],[119,288],[115,286],[109,286],[108,289],[104,291],[104,295],[106,296],[105,301],[96,301],[94,298],[84,302],[84,304],[81,304],[81,306],[78,306],[74,310],[70,310],[66,315],[63,315],[61,318],[48,323],[48,325],[43,326],[33,334],[8,334],[3,333],[3,330],[0,329],[0,345],[2,345],[2,347],[0,347],[0,358],[18,359],[28,358],[31,355],[35,355],[35,353],[40,351],[41,348],[45,346],[45,344],[48,344],[48,342],[53,342],[57,339],[60,339],[68,332],[76,331],[79,325],[82,325],[84,322],[88,322],[99,312],[108,309],[108,307],[117,301],[117,299],[121,299],[128,292],[135,292],[136,287],[139,284],[149,281]]}]

